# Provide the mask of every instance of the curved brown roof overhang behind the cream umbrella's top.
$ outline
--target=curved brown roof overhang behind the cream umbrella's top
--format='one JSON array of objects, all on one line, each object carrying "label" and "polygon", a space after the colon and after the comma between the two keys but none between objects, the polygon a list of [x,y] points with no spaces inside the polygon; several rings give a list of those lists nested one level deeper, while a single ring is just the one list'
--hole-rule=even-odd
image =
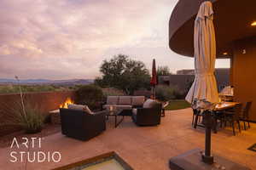
[{"label": "curved brown roof overhang behind the cream umbrella's top", "polygon": [[[169,21],[169,47],[177,54],[194,56],[194,21],[202,2],[179,0]],[[256,0],[210,0],[218,58],[233,55],[233,42],[256,36]]]}]

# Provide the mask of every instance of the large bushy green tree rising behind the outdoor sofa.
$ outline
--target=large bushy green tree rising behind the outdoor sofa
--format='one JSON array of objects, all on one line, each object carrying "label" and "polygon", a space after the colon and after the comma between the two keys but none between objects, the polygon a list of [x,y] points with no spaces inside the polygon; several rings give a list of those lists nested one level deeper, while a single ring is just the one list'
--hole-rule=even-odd
[{"label": "large bushy green tree rising behind the outdoor sofa", "polygon": [[96,77],[95,83],[101,87],[119,88],[126,94],[133,94],[137,89],[150,88],[150,76],[141,61],[119,54],[110,60],[103,60],[100,67],[102,77]]}]

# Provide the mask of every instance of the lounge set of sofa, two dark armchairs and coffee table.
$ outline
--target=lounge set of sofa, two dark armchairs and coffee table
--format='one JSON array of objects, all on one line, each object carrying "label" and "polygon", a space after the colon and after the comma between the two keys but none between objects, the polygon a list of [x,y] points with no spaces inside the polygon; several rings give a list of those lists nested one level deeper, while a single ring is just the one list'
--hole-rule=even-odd
[{"label": "lounge set of sofa, two dark armchairs and coffee table", "polygon": [[[67,105],[60,108],[61,133],[79,140],[89,140],[106,130],[106,121],[114,116],[114,127],[118,127],[124,116],[130,116],[138,126],[160,124],[162,104],[144,96],[108,96],[105,110],[93,112],[87,105]],[[122,119],[118,122],[119,116]]]}]

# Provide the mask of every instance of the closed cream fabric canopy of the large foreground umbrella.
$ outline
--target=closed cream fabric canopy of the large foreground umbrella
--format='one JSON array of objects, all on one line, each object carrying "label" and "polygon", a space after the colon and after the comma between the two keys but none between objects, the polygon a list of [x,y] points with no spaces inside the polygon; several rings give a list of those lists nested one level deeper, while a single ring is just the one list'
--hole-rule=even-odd
[{"label": "closed cream fabric canopy of the large foreground umbrella", "polygon": [[186,100],[192,103],[195,99],[217,103],[218,88],[214,75],[216,59],[216,42],[213,26],[212,3],[201,3],[195,19],[195,80]]}]

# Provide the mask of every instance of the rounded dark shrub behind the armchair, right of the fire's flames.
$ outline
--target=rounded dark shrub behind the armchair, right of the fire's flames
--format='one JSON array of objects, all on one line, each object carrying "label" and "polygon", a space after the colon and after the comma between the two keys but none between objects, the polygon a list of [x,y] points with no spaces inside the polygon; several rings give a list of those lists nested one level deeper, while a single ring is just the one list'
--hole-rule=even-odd
[{"label": "rounded dark shrub behind the armchair, right of the fire's flames", "polygon": [[102,99],[102,88],[96,85],[84,85],[76,90],[75,103],[79,105],[88,105],[92,110],[96,110],[100,107]]}]

